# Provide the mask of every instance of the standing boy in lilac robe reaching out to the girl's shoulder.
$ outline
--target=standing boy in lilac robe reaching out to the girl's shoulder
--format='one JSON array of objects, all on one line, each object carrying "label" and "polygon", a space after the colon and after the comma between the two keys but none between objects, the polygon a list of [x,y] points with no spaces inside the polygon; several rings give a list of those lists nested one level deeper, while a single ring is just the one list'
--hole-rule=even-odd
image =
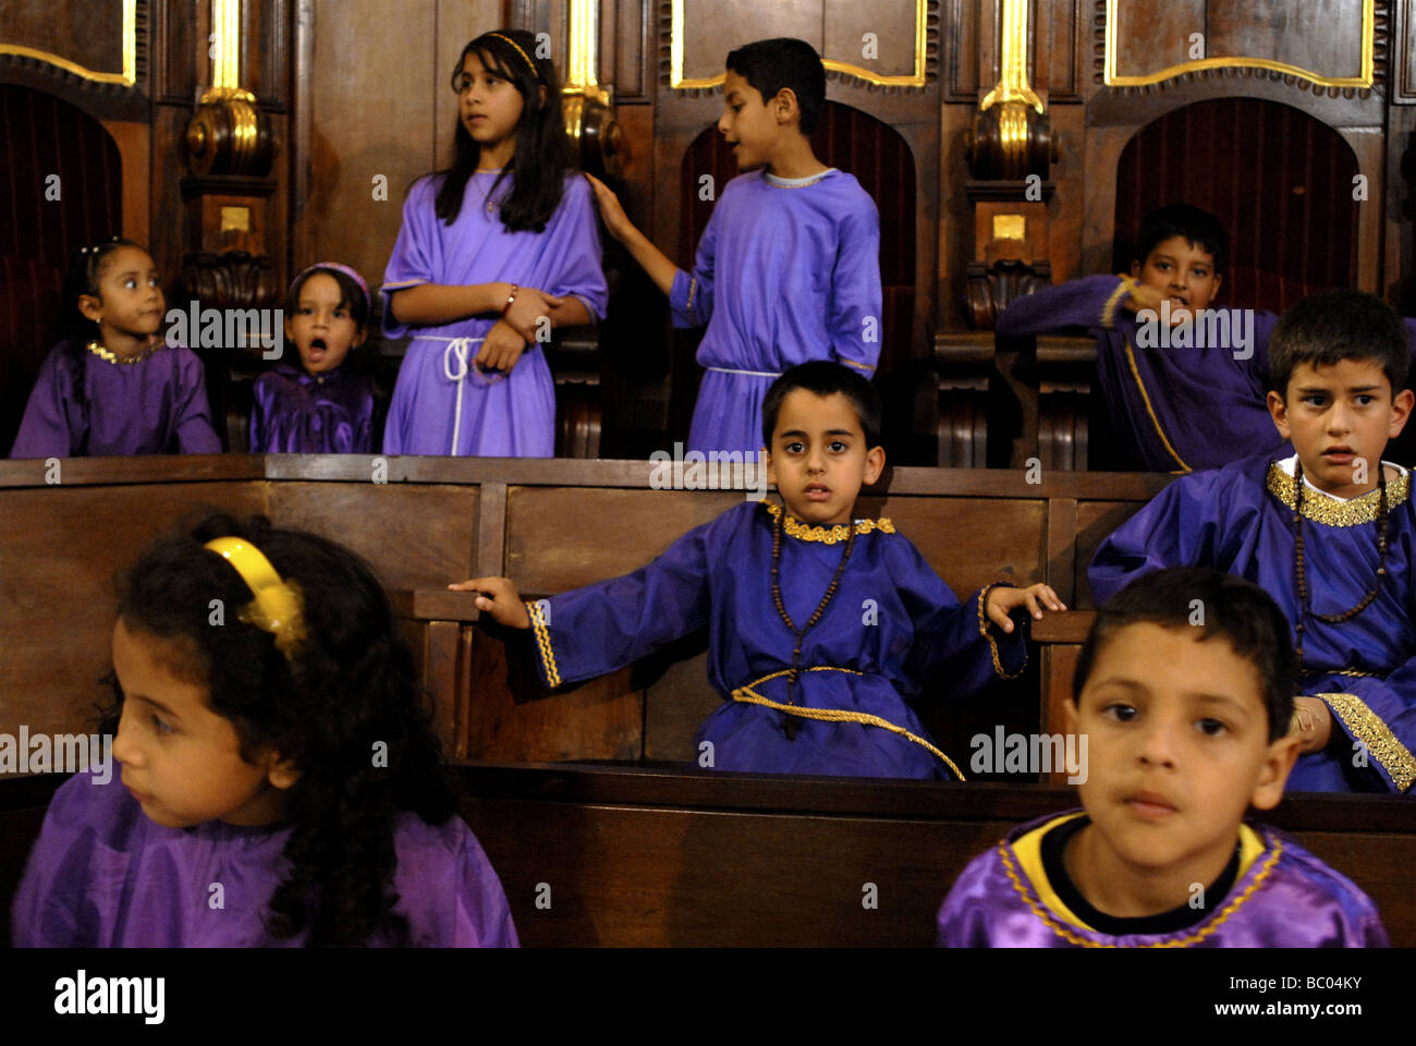
[{"label": "standing boy in lilac robe reaching out to the girl's shoulder", "polygon": [[826,69],[810,44],[759,40],[732,51],[724,103],[718,130],[750,173],[722,189],[691,274],[630,223],[609,189],[590,181],[610,235],[668,295],[674,326],[708,325],[698,346],[708,373],[688,448],[756,454],[762,401],[782,371],[835,360],[875,373],[879,213],[851,174],[811,150]]}]

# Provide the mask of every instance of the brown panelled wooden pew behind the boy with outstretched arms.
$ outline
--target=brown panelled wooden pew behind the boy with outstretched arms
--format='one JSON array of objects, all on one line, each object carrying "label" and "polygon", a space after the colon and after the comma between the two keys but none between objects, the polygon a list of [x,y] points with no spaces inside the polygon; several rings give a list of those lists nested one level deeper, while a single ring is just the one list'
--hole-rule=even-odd
[{"label": "brown panelled wooden pew behind the boy with outstretched arms", "polygon": [[[68,459],[48,483],[44,462],[0,462],[0,730],[65,733],[88,721],[108,668],[115,573],[178,517],[210,507],[310,529],[374,564],[456,757],[687,761],[719,700],[702,636],[545,696],[517,672],[515,636],[508,649],[507,636],[474,624],[470,595],[445,590],[477,574],[508,574],[528,594],[613,577],[745,496],[741,483],[653,490],[651,475],[649,462],[228,455]],[[858,514],[891,516],[960,598],[995,580],[1045,580],[1087,607],[1092,550],[1168,478],[1032,478],[893,469]],[[1028,673],[984,704],[929,703],[926,724],[946,751],[966,754],[980,727],[1039,729],[1044,680],[1059,669],[1038,649]]]}]

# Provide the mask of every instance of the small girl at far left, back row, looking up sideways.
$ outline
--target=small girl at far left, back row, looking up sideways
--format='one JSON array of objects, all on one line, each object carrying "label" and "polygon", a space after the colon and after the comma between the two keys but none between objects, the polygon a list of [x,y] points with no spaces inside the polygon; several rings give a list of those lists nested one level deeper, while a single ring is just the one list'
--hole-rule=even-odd
[{"label": "small girl at far left, back row, looking up sideways", "polygon": [[40,367],[10,456],[221,454],[201,360],[163,342],[163,305],[153,258],[133,241],[79,249],[69,336]]}]

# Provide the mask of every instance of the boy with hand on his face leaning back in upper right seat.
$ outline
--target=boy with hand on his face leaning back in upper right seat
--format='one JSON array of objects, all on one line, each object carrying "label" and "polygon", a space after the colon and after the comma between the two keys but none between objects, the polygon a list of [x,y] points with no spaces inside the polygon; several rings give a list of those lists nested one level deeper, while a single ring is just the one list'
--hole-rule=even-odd
[{"label": "boy with hand on his face leaning back in upper right seat", "polygon": [[1086,276],[1018,298],[997,332],[1087,327],[1096,336],[1097,378],[1127,468],[1191,472],[1276,449],[1283,441],[1264,393],[1277,316],[1209,308],[1228,244],[1208,211],[1161,207],[1141,223],[1129,276]]}]

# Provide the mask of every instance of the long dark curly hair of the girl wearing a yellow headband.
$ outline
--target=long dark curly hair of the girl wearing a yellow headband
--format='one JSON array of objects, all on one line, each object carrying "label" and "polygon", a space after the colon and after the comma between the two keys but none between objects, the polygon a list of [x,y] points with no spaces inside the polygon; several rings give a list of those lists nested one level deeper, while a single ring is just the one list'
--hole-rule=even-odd
[{"label": "long dark curly hair of the girl wearing a yellow headband", "polygon": [[[252,592],[202,547],[215,537],[249,540],[302,591],[306,639],[293,663],[270,634],[235,619]],[[269,928],[279,937],[309,928],[310,945],[358,945],[375,933],[408,944],[408,923],[394,911],[395,816],[412,811],[443,823],[457,802],[412,655],[372,568],[261,516],[210,516],[187,536],[154,541],[118,588],[129,629],[195,651],[194,663],[176,668],[208,687],[207,703],[231,720],[242,758],[273,750],[300,770],[286,797],[290,872],[270,897]],[[208,624],[212,600],[228,608],[224,626]],[[115,697],[110,733],[122,702],[116,680]],[[388,746],[387,765],[374,765],[377,743]]]}]

